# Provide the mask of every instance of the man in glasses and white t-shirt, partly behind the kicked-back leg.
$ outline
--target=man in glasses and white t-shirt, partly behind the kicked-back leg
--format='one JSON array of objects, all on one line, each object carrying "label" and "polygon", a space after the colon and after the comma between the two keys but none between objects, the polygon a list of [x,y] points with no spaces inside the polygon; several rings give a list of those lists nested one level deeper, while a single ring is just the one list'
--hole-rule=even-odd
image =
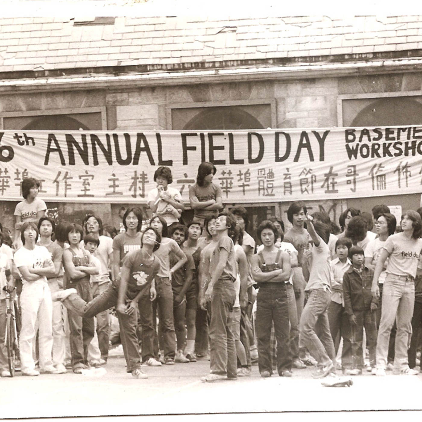
[{"label": "man in glasses and white t-shirt, partly behind the kicked-back leg", "polygon": [[[102,292],[106,291],[111,283],[109,268],[113,268],[113,239],[103,235],[103,222],[99,216],[87,214],[84,218],[85,233],[92,233],[98,236],[100,244],[93,256],[96,257],[101,264],[101,272],[96,277],[96,281],[92,284],[92,298],[96,298]],[[84,241],[81,241],[81,247],[84,248]],[[114,275],[115,277],[115,275]],[[101,352],[101,363],[107,362],[108,359],[108,338],[110,335],[110,315],[109,311],[103,311],[96,315],[98,345]],[[88,359],[90,362],[96,362],[97,356],[92,355],[92,349],[89,350]]]}]

